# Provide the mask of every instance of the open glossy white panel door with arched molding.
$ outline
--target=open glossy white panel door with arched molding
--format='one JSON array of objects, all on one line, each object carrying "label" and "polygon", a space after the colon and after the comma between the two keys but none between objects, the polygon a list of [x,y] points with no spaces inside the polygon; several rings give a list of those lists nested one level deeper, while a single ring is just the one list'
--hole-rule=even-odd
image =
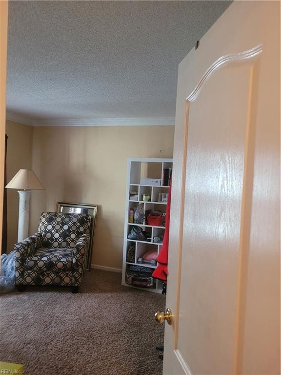
[{"label": "open glossy white panel door with arched molding", "polygon": [[181,62],[163,374],[280,373],[280,3]]}]

